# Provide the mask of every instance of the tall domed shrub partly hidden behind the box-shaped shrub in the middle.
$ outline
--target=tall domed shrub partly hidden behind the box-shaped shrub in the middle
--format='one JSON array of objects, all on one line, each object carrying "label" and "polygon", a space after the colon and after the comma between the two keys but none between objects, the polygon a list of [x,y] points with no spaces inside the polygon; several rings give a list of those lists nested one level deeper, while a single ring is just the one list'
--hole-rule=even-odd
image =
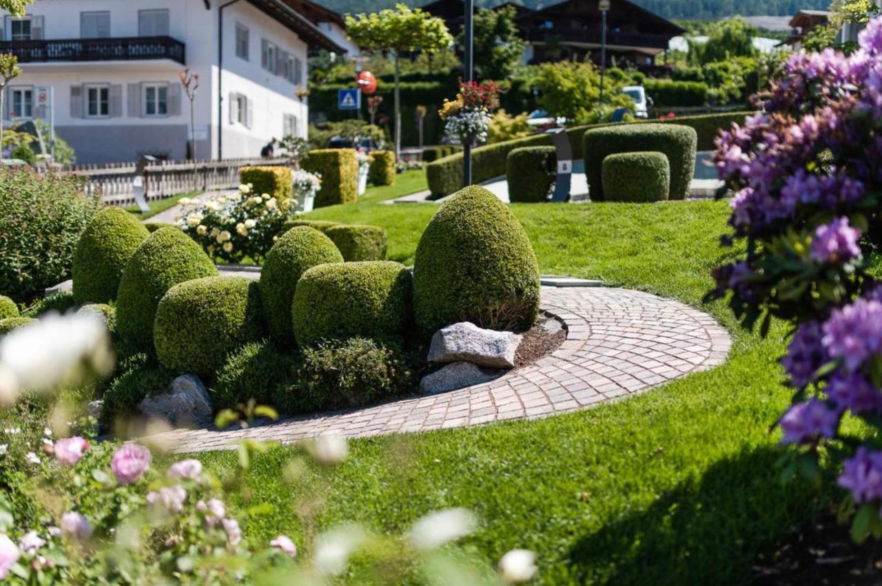
[{"label": "tall domed shrub partly hidden behind the box-shaped shrub in the middle", "polygon": [[342,263],[343,256],[325,234],[310,226],[288,230],[266,255],[260,273],[260,298],[266,329],[277,344],[291,345],[291,303],[297,281],[318,264]]}]

